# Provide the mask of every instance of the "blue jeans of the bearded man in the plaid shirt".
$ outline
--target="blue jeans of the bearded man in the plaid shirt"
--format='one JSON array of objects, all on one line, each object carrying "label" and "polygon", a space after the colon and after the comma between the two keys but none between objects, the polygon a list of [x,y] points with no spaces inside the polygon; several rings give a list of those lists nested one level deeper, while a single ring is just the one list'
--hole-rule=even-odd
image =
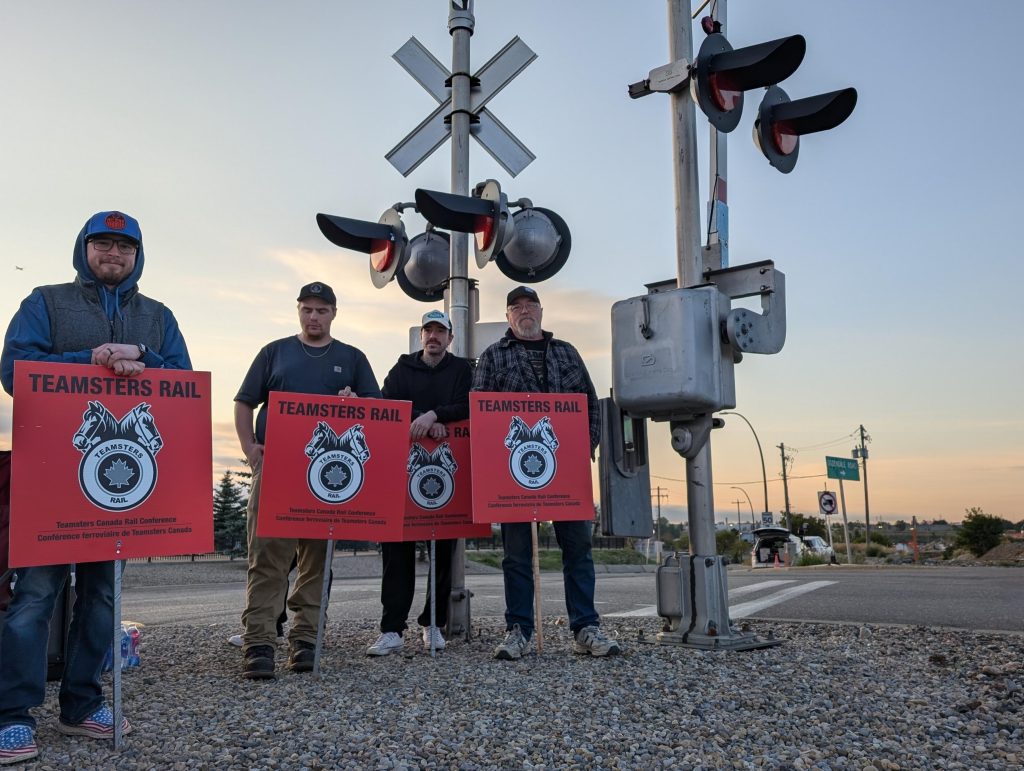
[{"label": "blue jeans of the bearded man in the plaid shirt", "polygon": [[[565,609],[569,629],[599,624],[594,607],[594,558],[590,553],[590,522],[554,522],[555,540],[562,550],[562,582],[565,586]],[[505,628],[519,625],[528,640],[534,636],[534,562],[532,539],[527,522],[502,525],[505,559]]]}]

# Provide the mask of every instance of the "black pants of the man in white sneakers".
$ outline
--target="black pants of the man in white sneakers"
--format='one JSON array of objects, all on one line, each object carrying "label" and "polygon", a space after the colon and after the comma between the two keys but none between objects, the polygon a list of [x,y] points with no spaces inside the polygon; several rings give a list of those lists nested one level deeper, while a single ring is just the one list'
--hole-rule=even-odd
[{"label": "black pants of the man in white sneakers", "polygon": [[[452,555],[455,541],[438,541],[435,547],[434,579],[437,582],[437,607],[435,624],[447,624],[449,596],[452,594]],[[395,544],[381,544],[384,559],[384,577],[381,581],[381,632],[397,632],[399,635],[409,625],[409,610],[416,594],[416,542],[404,541]],[[423,612],[416,619],[421,627],[430,626],[430,580],[427,579],[427,600]]]}]

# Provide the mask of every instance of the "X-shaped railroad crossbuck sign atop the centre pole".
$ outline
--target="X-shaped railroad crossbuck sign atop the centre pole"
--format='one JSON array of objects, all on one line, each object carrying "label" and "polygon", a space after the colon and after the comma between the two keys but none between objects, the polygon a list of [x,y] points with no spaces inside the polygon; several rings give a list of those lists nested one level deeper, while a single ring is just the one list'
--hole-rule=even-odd
[{"label": "X-shaped railroad crossbuck sign atop the centre pole", "polygon": [[[385,156],[399,174],[408,177],[452,135],[452,126],[444,120],[452,113],[452,95],[444,85],[452,73],[416,38],[410,38],[394,52],[393,58],[440,102],[423,123]],[[476,72],[474,78],[479,81],[479,88],[470,92],[470,112],[478,119],[470,127],[470,133],[512,176],[529,166],[537,156],[485,104],[536,58],[537,54],[518,36],[512,38]]]}]

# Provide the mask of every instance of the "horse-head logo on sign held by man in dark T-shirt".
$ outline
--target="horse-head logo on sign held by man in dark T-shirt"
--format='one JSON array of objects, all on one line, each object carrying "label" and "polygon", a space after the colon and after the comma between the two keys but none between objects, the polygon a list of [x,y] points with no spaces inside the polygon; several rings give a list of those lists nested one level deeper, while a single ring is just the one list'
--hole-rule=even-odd
[{"label": "horse-head logo on sign held by man in dark T-shirt", "polygon": [[362,465],[370,460],[370,447],[362,426],[335,433],[321,421],[306,444],[309,491],[326,504],[343,504],[362,487]]}]

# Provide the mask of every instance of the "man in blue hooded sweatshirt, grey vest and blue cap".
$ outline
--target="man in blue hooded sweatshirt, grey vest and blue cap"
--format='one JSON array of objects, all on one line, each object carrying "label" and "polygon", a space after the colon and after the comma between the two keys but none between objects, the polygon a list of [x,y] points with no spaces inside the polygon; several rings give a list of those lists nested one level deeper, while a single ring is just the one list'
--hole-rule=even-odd
[{"label": "man in blue hooded sweatshirt, grey vest and blue cap", "polygon": [[[135,377],[146,368],[190,370],[188,350],[171,311],[138,291],[144,257],[138,222],[121,212],[89,218],[75,242],[71,284],[38,287],[11,319],[0,357],[0,380],[13,394],[14,361],[62,361],[106,367]],[[99,676],[114,638],[115,562],[75,569],[75,608],[60,683],[61,733],[114,736],[114,715]],[[36,721],[43,702],[46,641],[69,565],[17,569],[14,596],[0,635],[0,765],[35,758]],[[131,730],[127,719],[122,728]]]}]

